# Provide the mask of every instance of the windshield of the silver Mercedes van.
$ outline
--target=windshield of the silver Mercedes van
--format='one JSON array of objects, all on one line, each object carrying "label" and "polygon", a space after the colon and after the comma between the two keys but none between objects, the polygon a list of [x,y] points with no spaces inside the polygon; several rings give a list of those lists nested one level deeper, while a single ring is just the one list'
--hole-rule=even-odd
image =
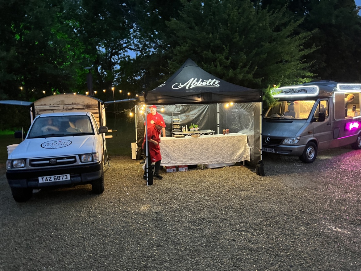
[{"label": "windshield of the silver Mercedes van", "polygon": [[275,106],[268,109],[265,118],[307,119],[310,115],[314,103],[314,100],[279,101]]}]

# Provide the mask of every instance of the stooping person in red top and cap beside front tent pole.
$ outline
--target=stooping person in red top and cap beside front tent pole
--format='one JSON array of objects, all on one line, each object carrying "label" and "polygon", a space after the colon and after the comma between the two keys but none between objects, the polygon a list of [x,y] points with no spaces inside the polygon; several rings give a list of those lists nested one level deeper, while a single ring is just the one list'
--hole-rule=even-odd
[{"label": "stooping person in red top and cap beside front tent pole", "polygon": [[[162,160],[162,156],[160,154],[160,147],[159,147],[159,142],[160,142],[160,130],[162,129],[162,124],[163,121],[161,120],[156,120],[154,122],[153,125],[148,126],[148,159],[147,159],[147,165],[144,168],[144,175],[143,175],[143,179],[147,180],[147,167],[148,167],[148,174],[149,169],[151,169],[151,165],[153,162],[155,162],[155,167],[154,167],[154,177],[157,179],[162,179],[163,177],[161,175],[159,175],[159,169],[160,169],[160,162]],[[145,154],[145,138],[143,141],[143,145],[142,145],[144,154]],[[152,177],[153,177],[152,176]],[[151,178],[153,179],[153,178]],[[148,176],[148,184],[149,184],[149,176]],[[152,181],[153,184],[153,181]]]}]

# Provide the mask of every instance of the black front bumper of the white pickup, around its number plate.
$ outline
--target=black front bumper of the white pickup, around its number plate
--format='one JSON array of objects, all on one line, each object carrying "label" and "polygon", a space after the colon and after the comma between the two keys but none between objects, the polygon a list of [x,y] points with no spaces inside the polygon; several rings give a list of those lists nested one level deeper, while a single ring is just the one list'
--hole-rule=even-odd
[{"label": "black front bumper of the white pickup, around its number plate", "polygon": [[[8,169],[6,178],[10,187],[42,188],[46,186],[88,184],[101,177],[101,163],[77,165],[73,167],[58,167],[47,169]],[[70,179],[64,181],[39,182],[39,177],[69,174]]]}]

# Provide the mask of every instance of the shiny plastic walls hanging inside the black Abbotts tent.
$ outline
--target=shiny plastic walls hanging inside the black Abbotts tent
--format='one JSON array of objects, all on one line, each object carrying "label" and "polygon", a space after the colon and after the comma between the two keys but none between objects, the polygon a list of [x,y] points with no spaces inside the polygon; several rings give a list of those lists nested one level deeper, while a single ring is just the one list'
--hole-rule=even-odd
[{"label": "shiny plastic walls hanging inside the black Abbotts tent", "polygon": [[[149,105],[148,105],[149,107]],[[163,111],[162,111],[163,108]],[[173,112],[179,112],[181,126],[199,125],[200,129],[213,130],[222,133],[223,129],[229,129],[230,133],[243,133],[248,136],[250,147],[251,165],[255,166],[261,160],[260,133],[261,133],[261,108],[262,103],[234,103],[226,107],[226,104],[174,104],[157,105],[157,113],[160,113],[166,124],[166,136],[172,136],[171,117]],[[217,112],[219,110],[219,112]],[[149,113],[147,108],[147,113]],[[142,156],[142,143],[144,140],[145,107],[136,106],[136,159]]]}]

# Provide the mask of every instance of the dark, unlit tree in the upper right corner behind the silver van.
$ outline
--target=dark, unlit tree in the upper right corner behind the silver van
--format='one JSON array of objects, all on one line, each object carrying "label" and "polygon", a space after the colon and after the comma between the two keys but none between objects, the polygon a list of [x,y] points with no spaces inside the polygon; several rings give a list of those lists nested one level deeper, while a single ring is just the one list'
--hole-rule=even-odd
[{"label": "dark, unlit tree in the upper right corner behind the silver van", "polygon": [[317,47],[306,56],[306,60],[313,63],[311,70],[315,78],[360,82],[361,17],[355,1],[266,0],[262,1],[262,7],[271,10],[287,7],[293,18],[303,19],[300,33],[313,32],[305,46]]}]

